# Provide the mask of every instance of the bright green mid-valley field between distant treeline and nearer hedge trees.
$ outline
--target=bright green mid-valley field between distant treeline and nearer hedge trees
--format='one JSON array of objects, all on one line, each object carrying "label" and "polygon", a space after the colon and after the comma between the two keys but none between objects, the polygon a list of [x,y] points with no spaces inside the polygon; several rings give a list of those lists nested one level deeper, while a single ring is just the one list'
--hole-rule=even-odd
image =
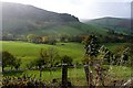
[{"label": "bright green mid-valley field between distant treeline and nearer hedge trees", "polygon": [[[63,44],[63,45],[62,45]],[[2,51],[8,51],[13,54],[16,57],[22,59],[21,68],[25,68],[25,65],[31,61],[39,57],[39,52],[41,48],[50,48],[53,47],[58,50],[61,56],[69,55],[72,57],[73,62],[79,62],[84,58],[84,45],[81,43],[58,43],[57,45],[48,45],[48,44],[33,44],[33,43],[25,43],[25,42],[12,42],[12,41],[3,41],[0,42],[2,45]],[[110,43],[105,44],[105,46],[113,51],[121,43]]]}]

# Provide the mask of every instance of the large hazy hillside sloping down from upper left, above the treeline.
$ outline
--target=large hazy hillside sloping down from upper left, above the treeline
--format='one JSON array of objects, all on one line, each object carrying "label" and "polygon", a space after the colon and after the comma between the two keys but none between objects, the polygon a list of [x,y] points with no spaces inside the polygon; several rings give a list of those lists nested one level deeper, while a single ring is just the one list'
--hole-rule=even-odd
[{"label": "large hazy hillside sloping down from upper left, above the treeline", "polygon": [[105,34],[106,30],[81,23],[68,13],[55,13],[32,6],[2,3],[4,35]]}]

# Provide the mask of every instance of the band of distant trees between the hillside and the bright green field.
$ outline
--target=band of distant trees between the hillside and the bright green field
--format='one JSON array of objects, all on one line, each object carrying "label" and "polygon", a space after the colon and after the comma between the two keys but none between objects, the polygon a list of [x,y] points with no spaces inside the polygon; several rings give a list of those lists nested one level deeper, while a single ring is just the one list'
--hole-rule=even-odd
[{"label": "band of distant trees between the hillside and the bright green field", "polygon": [[[132,35],[109,33],[109,35],[96,35],[100,43],[133,43]],[[89,35],[19,35],[3,34],[2,41],[24,41],[38,44],[55,44],[57,42],[78,42],[81,43],[83,38]]]}]

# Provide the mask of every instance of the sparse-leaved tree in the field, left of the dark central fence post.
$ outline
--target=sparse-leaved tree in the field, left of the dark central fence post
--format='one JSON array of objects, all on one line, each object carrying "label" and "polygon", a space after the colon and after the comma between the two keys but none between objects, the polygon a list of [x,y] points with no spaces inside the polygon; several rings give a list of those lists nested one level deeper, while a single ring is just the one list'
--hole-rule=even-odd
[{"label": "sparse-leaved tree in the field, left of the dark central fence post", "polygon": [[[60,56],[58,54],[58,51],[51,47],[49,50],[41,48],[40,57],[35,59],[34,63],[32,63],[32,65],[39,68],[40,77],[41,77],[41,72],[44,67],[50,67],[50,69],[52,70],[52,67],[54,67],[59,63],[60,63]],[[32,65],[28,64],[28,66],[30,67],[32,67]]]}]

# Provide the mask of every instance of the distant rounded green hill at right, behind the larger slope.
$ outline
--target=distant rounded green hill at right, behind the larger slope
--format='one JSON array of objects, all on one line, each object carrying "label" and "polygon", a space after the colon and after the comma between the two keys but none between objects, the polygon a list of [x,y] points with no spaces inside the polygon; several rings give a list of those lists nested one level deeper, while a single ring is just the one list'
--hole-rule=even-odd
[{"label": "distant rounded green hill at right, behind the larger slope", "polygon": [[85,21],[84,23],[96,25],[108,30],[113,30],[115,33],[122,33],[122,34],[133,33],[133,30],[131,29],[130,19],[101,18],[101,19]]}]

